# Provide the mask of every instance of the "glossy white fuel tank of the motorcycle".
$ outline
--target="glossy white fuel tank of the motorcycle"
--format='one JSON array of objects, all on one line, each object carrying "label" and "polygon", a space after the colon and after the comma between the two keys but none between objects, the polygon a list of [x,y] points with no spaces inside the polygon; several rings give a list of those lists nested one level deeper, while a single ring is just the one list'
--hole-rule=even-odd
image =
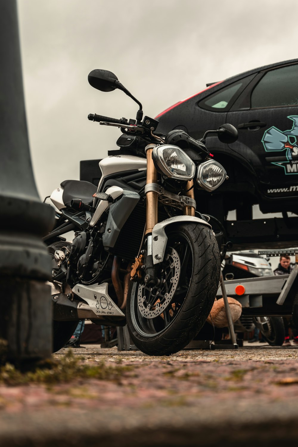
[{"label": "glossy white fuel tank of the motorcycle", "polygon": [[147,160],[146,158],[134,155],[111,155],[103,158],[99,162],[99,167],[102,172],[102,177],[98,185],[98,191],[100,191],[105,177],[117,172],[134,171],[135,169],[142,171],[147,169]]}]

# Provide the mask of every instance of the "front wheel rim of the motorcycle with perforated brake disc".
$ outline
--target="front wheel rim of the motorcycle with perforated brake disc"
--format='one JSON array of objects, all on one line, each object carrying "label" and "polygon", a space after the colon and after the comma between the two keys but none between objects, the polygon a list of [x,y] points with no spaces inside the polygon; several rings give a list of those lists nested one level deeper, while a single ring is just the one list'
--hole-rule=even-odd
[{"label": "front wheel rim of the motorcycle with perforated brake disc", "polygon": [[155,268],[160,283],[156,287],[135,283],[130,301],[134,329],[148,338],[172,325],[188,294],[193,276],[193,249],[184,233],[169,234],[164,261]]}]

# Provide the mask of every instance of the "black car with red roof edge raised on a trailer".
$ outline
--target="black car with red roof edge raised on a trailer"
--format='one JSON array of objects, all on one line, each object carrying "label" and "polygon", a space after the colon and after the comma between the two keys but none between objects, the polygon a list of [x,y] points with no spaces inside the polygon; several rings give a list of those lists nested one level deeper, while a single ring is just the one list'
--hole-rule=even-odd
[{"label": "black car with red roof edge raised on a trailer", "polygon": [[[223,224],[234,249],[256,242],[263,248],[298,243],[298,218],[287,214],[298,213],[298,59],[207,84],[155,118],[157,131],[182,129],[195,139],[223,123],[238,130],[232,144],[207,137],[207,148],[229,180],[214,194],[197,190],[196,196],[200,210]],[[253,204],[263,213],[282,212],[283,219],[252,221]],[[230,210],[236,210],[234,222],[226,221]]]}]

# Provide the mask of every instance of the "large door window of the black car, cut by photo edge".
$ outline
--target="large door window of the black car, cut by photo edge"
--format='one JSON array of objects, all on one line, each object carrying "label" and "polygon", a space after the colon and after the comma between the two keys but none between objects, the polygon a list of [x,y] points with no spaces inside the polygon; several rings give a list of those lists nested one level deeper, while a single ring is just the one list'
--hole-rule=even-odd
[{"label": "large door window of the black car, cut by photo edge", "polygon": [[298,65],[270,70],[252,91],[252,109],[297,104]]}]

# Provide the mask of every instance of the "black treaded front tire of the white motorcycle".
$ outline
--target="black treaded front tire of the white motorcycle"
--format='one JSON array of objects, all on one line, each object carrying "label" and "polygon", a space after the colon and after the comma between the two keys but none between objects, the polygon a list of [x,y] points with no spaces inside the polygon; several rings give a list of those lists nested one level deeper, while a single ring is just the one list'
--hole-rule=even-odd
[{"label": "black treaded front tire of the white motorcycle", "polygon": [[[177,305],[178,310],[177,312],[174,311],[176,315],[173,316],[168,325],[165,325],[164,317],[163,324],[165,327],[163,329],[155,329],[155,326],[153,328],[156,322],[151,322],[153,319],[149,321],[139,310],[137,298],[139,284],[136,282],[130,288],[126,305],[126,320],[130,337],[135,346],[148,355],[170,355],[187,346],[204,325],[218,290],[220,254],[212,230],[200,223],[185,223],[170,227],[167,236],[166,250],[171,250],[175,241],[180,240],[181,243],[185,244],[185,253],[189,252],[192,255],[191,257],[186,254],[184,257],[180,256],[180,259],[187,258],[186,275],[181,273],[171,303],[175,300],[178,287],[181,287],[182,290],[185,287],[186,295],[182,304]],[[180,242],[177,242],[177,244],[180,244]],[[183,246],[181,245],[182,249]],[[159,264],[160,268],[164,262],[165,258]],[[182,286],[180,286],[180,283]],[[140,287],[145,286],[143,284]],[[145,292],[142,289],[140,293]],[[170,306],[172,304],[169,304],[164,312],[169,312]],[[160,317],[157,318],[160,320]]]}]

